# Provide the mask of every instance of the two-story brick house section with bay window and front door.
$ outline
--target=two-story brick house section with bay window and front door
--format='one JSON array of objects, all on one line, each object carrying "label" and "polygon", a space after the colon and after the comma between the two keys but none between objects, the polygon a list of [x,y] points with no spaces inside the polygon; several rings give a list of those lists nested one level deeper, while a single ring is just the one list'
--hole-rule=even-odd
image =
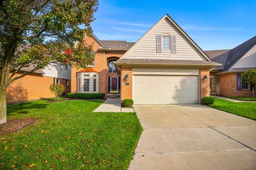
[{"label": "two-story brick house section with bay window and front door", "polygon": [[100,41],[97,37],[85,37],[87,44],[93,44],[95,59],[86,69],[71,69],[71,92],[104,93],[106,97],[120,96],[121,75],[113,62],[133,46],[126,41]]}]

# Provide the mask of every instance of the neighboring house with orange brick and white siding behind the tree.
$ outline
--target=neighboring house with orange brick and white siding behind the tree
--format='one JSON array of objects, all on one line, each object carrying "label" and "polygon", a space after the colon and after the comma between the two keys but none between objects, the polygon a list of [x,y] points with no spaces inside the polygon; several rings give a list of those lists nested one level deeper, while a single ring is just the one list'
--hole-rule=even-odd
[{"label": "neighboring house with orange brick and white siding behind the tree", "polygon": [[[22,69],[14,78],[31,69]],[[70,77],[70,66],[49,65],[12,82],[7,88],[7,103],[54,97],[49,90],[52,83],[61,83],[66,87],[65,93],[70,92]]]}]

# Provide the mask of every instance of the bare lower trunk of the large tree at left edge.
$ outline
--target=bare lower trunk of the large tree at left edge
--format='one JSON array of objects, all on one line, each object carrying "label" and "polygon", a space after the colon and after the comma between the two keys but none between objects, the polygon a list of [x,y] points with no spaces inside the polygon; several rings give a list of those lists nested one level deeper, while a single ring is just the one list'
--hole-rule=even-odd
[{"label": "bare lower trunk of the large tree at left edge", "polygon": [[0,124],[6,123],[6,88],[0,87]]}]

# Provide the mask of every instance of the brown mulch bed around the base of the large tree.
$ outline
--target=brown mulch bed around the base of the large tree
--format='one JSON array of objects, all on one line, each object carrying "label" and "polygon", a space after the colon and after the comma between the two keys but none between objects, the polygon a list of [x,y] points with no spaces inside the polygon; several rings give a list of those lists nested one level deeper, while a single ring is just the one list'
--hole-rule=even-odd
[{"label": "brown mulch bed around the base of the large tree", "polygon": [[13,118],[7,119],[6,123],[0,124],[0,134],[6,134],[13,131],[26,128],[30,124],[33,124],[36,118]]}]

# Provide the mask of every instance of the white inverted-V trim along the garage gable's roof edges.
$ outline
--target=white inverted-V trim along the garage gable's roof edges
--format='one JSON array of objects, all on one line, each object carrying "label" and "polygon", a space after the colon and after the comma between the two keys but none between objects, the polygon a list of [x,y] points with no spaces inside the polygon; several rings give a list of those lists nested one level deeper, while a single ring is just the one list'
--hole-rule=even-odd
[{"label": "white inverted-V trim along the garage gable's roof edges", "polygon": [[165,14],[163,16],[162,19],[160,19],[155,25],[153,25],[153,27],[151,27],[146,33],[145,35],[143,35],[138,41],[137,43],[135,43],[129,50],[127,50],[126,53],[124,53],[124,55],[121,57],[122,58],[125,58],[126,56],[130,55],[131,52],[133,52],[133,50],[135,48],[137,48],[137,46],[143,41],[145,40],[145,38],[150,35],[151,32],[153,32],[159,24],[162,24],[162,22],[165,20],[165,19],[168,19],[170,24],[172,24],[174,26],[174,28],[181,33],[181,35],[188,40],[188,42],[190,43],[190,45],[192,45],[196,50],[197,52],[199,52],[199,54],[201,54],[205,59],[206,61],[212,61],[205,53],[204,51],[187,35],[187,33],[185,31],[183,31],[180,26],[168,15],[168,14]]}]

